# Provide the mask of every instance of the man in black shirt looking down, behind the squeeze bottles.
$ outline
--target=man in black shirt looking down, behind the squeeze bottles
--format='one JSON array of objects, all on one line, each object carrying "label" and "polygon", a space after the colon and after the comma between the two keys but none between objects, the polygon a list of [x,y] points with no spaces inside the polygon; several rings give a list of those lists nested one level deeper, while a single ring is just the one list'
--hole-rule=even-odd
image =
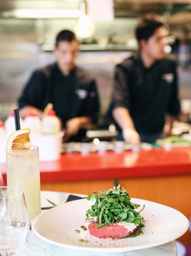
[{"label": "man in black shirt looking down, behind the squeeze bottles", "polygon": [[78,50],[75,34],[61,31],[55,40],[57,62],[32,73],[19,99],[21,117],[33,107],[42,118],[43,109],[51,102],[70,141],[78,141],[81,129],[95,123],[99,114],[95,79],[75,66]]}]

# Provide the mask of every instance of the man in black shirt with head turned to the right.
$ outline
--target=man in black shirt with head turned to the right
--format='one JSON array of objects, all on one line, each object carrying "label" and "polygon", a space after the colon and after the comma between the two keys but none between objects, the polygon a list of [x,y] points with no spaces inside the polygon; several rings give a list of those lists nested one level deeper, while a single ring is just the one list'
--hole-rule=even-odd
[{"label": "man in black shirt with head turned to the right", "polygon": [[140,51],[117,65],[111,111],[118,139],[139,144],[163,137],[165,113],[168,134],[180,113],[176,63],[165,57],[167,29],[156,15],[146,15],[136,27]]}]

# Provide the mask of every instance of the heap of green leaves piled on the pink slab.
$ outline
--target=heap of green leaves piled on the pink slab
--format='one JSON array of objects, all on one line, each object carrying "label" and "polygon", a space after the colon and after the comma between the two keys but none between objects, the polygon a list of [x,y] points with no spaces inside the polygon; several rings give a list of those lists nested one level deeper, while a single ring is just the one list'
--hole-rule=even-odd
[{"label": "heap of green leaves piled on the pink slab", "polygon": [[93,195],[88,195],[86,199],[96,201],[86,212],[86,217],[96,217],[99,222],[97,229],[108,224],[119,223],[119,221],[134,223],[139,226],[144,223],[144,219],[140,215],[144,206],[139,212],[136,212],[135,209],[140,205],[132,203],[129,194],[123,187],[120,189],[120,185],[117,188],[114,186],[113,189],[102,192],[97,191]]}]

